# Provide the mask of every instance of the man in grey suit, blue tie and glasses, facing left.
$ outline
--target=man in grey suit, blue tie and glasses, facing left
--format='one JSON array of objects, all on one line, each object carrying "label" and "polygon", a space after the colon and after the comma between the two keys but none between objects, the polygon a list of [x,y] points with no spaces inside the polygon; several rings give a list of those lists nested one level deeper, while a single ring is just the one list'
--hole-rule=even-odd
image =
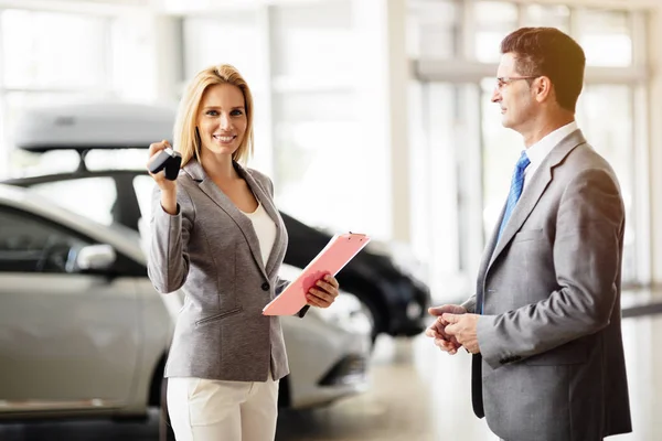
[{"label": "man in grey suit, blue tie and glasses, facing left", "polygon": [[568,35],[524,28],[501,43],[492,101],[522,135],[476,294],[431,308],[426,331],[473,354],[472,405],[508,441],[594,441],[631,431],[621,337],[624,208],[575,106],[585,55]]}]

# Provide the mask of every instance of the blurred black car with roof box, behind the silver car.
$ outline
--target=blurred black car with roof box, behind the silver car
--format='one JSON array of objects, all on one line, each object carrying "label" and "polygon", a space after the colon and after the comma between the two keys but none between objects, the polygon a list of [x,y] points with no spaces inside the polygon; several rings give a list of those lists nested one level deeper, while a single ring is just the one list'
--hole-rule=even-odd
[{"label": "blurred black car with roof box, behind the silver car", "polygon": [[[147,162],[143,149],[171,133],[173,119],[173,111],[166,107],[121,103],[33,108],[19,119],[17,147],[49,154],[76,151],[76,170],[4,183],[31,187],[76,213],[106,225],[125,225],[145,237],[154,184],[143,166],[131,165]],[[128,153],[130,149],[137,150]],[[333,233],[280,214],[289,235],[285,262],[305,268]],[[381,333],[413,336],[425,329],[430,291],[407,247],[373,240],[337,278],[369,315],[373,342]]]}]

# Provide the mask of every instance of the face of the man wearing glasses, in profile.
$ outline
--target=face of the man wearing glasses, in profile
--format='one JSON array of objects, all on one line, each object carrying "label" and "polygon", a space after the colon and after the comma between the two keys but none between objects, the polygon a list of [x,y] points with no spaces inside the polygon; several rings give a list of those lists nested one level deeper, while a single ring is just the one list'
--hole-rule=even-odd
[{"label": "face of the man wearing glasses, in profile", "polygon": [[536,101],[527,78],[517,72],[516,58],[513,53],[501,56],[492,103],[496,103],[501,107],[503,127],[521,131],[533,118]]}]

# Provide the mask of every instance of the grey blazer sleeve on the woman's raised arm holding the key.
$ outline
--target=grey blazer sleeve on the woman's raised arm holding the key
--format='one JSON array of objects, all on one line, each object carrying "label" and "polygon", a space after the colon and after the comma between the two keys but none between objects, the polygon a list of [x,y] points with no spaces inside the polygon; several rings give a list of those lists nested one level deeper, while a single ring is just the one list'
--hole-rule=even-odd
[{"label": "grey blazer sleeve on the woman's raised arm holding the key", "polygon": [[152,193],[151,237],[148,276],[160,293],[180,289],[189,276],[189,237],[195,220],[195,211],[185,189],[178,184],[178,211],[166,213],[161,206],[161,190]]}]

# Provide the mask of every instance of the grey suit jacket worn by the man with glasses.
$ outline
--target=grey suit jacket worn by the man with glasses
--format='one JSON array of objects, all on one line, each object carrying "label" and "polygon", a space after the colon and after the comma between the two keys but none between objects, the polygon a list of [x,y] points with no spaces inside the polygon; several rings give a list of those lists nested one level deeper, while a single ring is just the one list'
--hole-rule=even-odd
[{"label": "grey suit jacket worn by the man with glasses", "polygon": [[[502,214],[503,216],[503,214]],[[489,241],[476,311],[477,416],[508,441],[594,441],[631,431],[621,337],[624,208],[609,164],[577,130],[531,178]]]}]

